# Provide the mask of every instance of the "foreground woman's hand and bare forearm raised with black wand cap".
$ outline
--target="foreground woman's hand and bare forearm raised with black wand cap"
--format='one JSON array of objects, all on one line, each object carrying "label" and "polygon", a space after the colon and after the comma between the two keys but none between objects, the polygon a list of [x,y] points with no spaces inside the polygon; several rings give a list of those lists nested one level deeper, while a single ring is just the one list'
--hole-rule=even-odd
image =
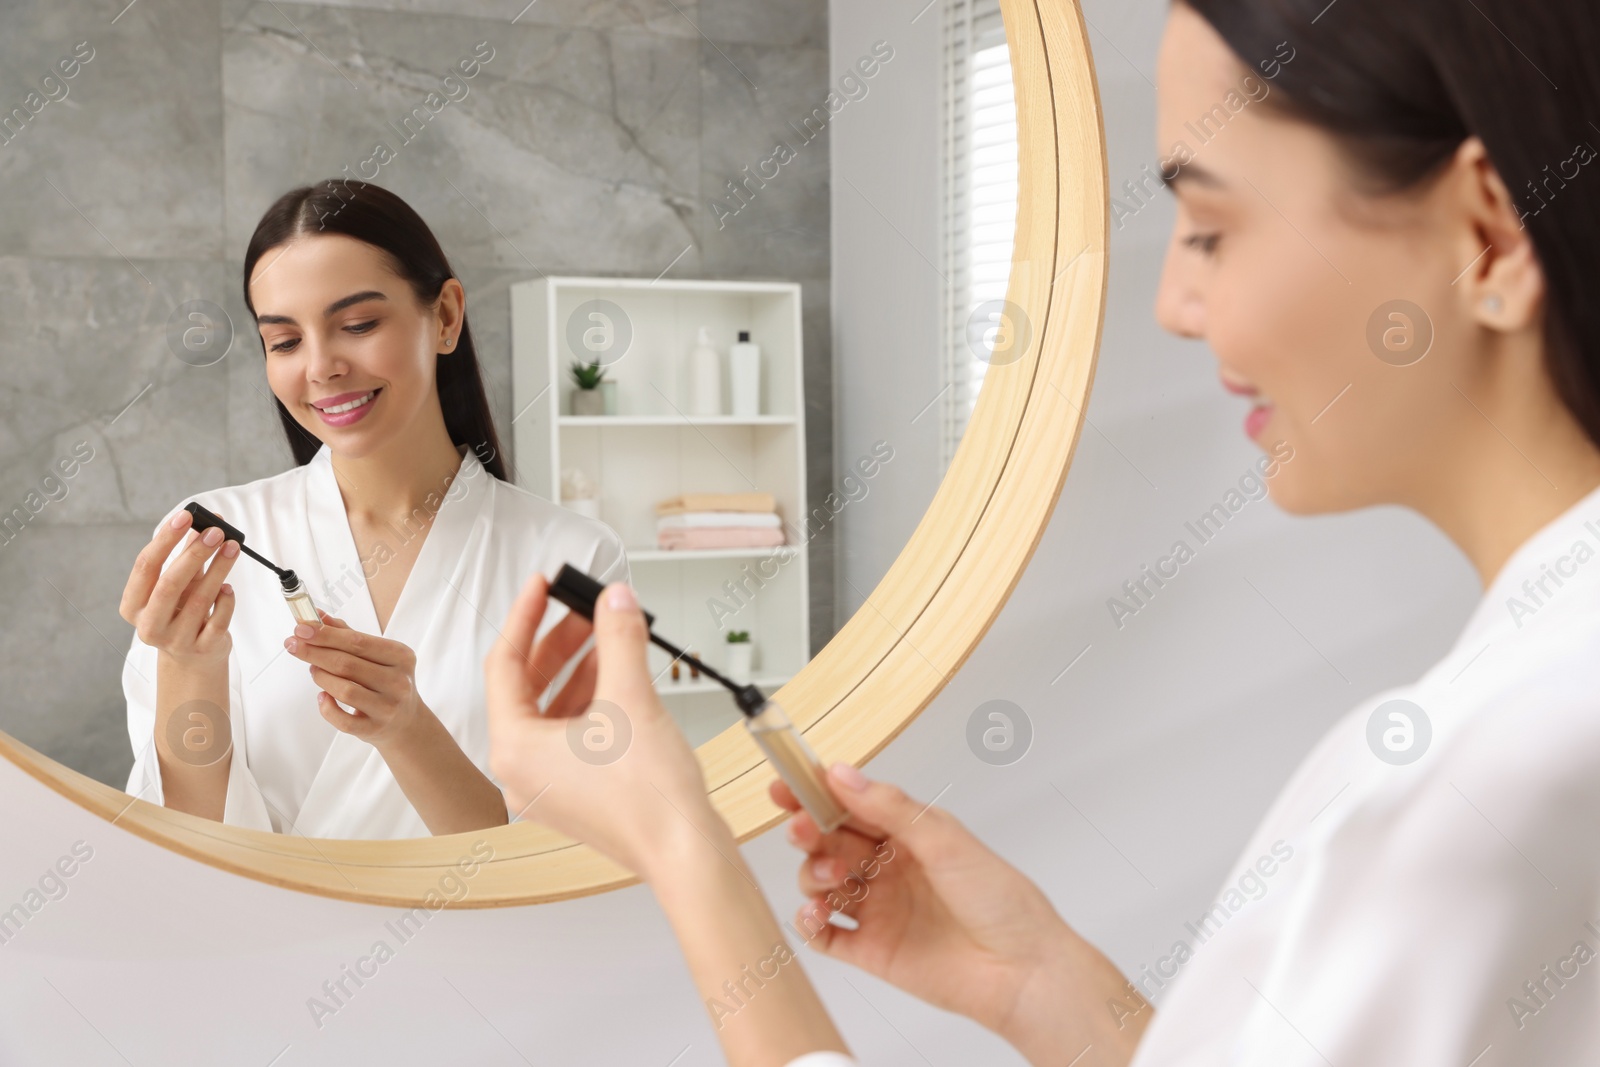
[{"label": "foreground woman's hand and bare forearm raised with black wand cap", "polygon": [[[845,1051],[712,808],[694,750],[656,697],[634,590],[618,582],[600,595],[597,648],[541,715],[541,696],[590,630],[582,616],[568,614],[534,645],[546,605],[547,585],[536,574],[483,664],[490,763],[512,811],[592,845],[650,883],[730,1067],[781,1067],[805,1053]],[[736,984],[744,995],[730,992]]]}]

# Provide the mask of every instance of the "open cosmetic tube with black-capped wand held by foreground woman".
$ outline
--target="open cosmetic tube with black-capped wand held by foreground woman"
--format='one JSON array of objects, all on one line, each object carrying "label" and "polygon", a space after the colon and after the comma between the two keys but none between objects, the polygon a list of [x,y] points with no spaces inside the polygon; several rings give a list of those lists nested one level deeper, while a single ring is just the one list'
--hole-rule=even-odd
[{"label": "open cosmetic tube with black-capped wand held by foreground woman", "polygon": [[[557,573],[555,581],[550,582],[550,598],[566,605],[571,611],[594,621],[595,617],[595,600],[600,597],[600,590],[605,585],[597,582],[589,574],[584,574],[570,563],[563,563],[560,573]],[[643,608],[640,609],[643,611]],[[754,685],[739,685],[731,678],[725,677],[720,670],[709,667],[701,662],[694,654],[683,651],[667,638],[656,633],[651,627],[656,616],[643,611],[645,629],[650,632],[650,641],[658,648],[666,649],[674,659],[683,659],[688,664],[699,667],[706,672],[706,677],[712,681],[720,683],[725,689],[733,693],[734,704],[739,705],[739,712],[744,713],[744,725],[750,731],[750,737],[760,745],[766,758],[771,760],[773,768],[778,771],[779,777],[789,785],[789,790],[795,795],[795,800],[811,814],[816,825],[822,833],[832,833],[840,825],[843,825],[846,811],[838,806],[834,800],[834,793],[827,790],[827,784],[822,781],[822,761],[818,760],[816,752],[806,744],[805,736],[795,729],[794,723],[789,720],[787,712],[776,702],[768,699]]]}]

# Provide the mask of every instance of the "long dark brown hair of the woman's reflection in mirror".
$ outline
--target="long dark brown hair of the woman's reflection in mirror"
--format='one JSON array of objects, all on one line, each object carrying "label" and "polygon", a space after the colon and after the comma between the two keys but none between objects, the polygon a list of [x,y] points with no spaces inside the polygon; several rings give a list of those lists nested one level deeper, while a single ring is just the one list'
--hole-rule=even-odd
[{"label": "long dark brown hair of the woman's reflection in mirror", "polygon": [[[256,314],[256,306],[250,301],[250,274],[256,269],[256,261],[278,245],[315,234],[342,234],[381,250],[424,307],[438,301],[445,282],[456,277],[434,232],[405,200],[371,182],[333,178],[291,189],[256,222],[256,232],[250,235],[250,246],[245,250],[245,307],[251,315]],[[470,448],[485,470],[507,482],[494,416],[490,414],[483,374],[478,371],[478,352],[466,317],[461,320],[456,347],[438,360],[435,382],[450,440]],[[320,442],[294,421],[282,400],[275,403],[294,462],[310,462]]]}]

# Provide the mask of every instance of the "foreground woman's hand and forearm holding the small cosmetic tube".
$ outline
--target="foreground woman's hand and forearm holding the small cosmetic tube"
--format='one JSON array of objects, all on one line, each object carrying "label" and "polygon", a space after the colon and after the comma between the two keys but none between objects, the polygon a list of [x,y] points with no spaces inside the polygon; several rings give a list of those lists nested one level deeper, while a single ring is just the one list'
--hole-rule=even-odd
[{"label": "foreground woman's hand and forearm holding the small cosmetic tube", "polygon": [[[797,813],[789,840],[808,854],[800,891],[811,899],[795,928],[813,947],[974,1019],[1029,1062],[1064,1064],[1085,1046],[1080,1067],[1133,1057],[1154,1009],[1038,886],[942,808],[848,763],[832,765],[827,784],[850,819],[826,835],[787,785],[771,785]],[[858,928],[827,923],[830,912]]]}]

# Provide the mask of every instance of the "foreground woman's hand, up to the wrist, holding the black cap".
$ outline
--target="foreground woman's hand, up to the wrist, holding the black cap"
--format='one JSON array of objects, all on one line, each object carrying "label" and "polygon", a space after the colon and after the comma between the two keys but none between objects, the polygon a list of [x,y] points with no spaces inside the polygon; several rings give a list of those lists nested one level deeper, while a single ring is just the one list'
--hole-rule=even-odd
[{"label": "foreground woman's hand, up to the wrist, holding the black cap", "polygon": [[[483,661],[490,768],[512,813],[587,841],[651,880],[674,843],[722,840],[694,750],[650,680],[645,617],[608,585],[595,622],[570,613],[534,645],[549,584],[534,574]],[[539,697],[590,629],[597,648],[541,715]],[[731,837],[730,837],[731,841]]]}]

